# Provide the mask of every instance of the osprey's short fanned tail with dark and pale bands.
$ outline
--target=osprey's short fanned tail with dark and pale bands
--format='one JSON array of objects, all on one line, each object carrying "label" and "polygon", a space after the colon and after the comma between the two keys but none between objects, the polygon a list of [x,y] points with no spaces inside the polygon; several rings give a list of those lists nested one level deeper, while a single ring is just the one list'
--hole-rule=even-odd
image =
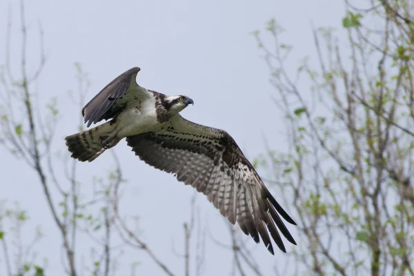
[{"label": "osprey's short fanned tail with dark and pale bands", "polygon": [[79,161],[93,161],[101,155],[105,151],[101,146],[100,138],[104,125],[66,137],[66,146],[72,152],[70,157]]}]

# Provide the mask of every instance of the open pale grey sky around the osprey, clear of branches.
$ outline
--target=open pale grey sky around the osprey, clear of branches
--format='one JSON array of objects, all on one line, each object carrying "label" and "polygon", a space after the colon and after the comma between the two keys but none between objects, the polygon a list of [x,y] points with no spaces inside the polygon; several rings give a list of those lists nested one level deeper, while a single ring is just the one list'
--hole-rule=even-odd
[{"label": "open pale grey sky around the osprey, clear of branches", "polygon": [[[4,63],[4,43],[8,8],[12,8],[14,37],[19,46],[17,21],[18,1],[0,0],[0,63]],[[264,29],[274,17],[287,32],[283,39],[295,47],[293,55],[300,59],[313,55],[313,26],[340,28],[344,4],[336,0],[257,0],[257,1],[26,1],[27,23],[30,25],[29,61],[37,64],[41,21],[45,35],[48,63],[39,81],[41,97],[59,97],[63,115],[57,130],[55,150],[66,150],[63,137],[77,131],[80,110],[68,104],[67,91],[76,90],[74,62],[79,61],[92,81],[87,101],[119,73],[133,66],[141,67],[137,81],[141,86],[167,95],[188,95],[195,101],[181,115],[199,124],[227,130],[250,160],[264,152],[262,133],[272,148],[283,150],[284,126],[277,117],[270,95],[268,70],[260,58],[255,39],[249,32]],[[12,49],[18,57],[19,48]],[[290,69],[296,67],[292,63]],[[19,72],[18,66],[14,71]],[[304,84],[306,85],[306,83]],[[76,119],[74,119],[76,118]],[[129,180],[122,201],[125,214],[138,214],[144,228],[143,238],[172,270],[181,275],[184,266],[171,250],[172,239],[182,246],[182,223],[188,219],[188,204],[193,189],[175,180],[172,175],[144,164],[130,152],[126,143],[117,146],[117,153]],[[50,219],[37,176],[21,161],[9,159],[0,149],[1,195],[19,201],[29,210],[31,226],[41,224],[47,239],[39,246],[39,255],[48,257],[48,275],[61,275],[60,239]],[[66,151],[65,151],[66,152]],[[102,174],[110,166],[108,152],[92,164],[81,164],[84,181]],[[275,194],[276,199],[282,195]],[[220,239],[226,224],[203,196],[197,199],[201,213],[208,218],[213,235]],[[285,206],[287,207],[287,206]],[[293,226],[288,226],[293,230]],[[296,239],[300,246],[300,240]],[[57,242],[54,242],[57,241]],[[58,242],[59,241],[59,242]],[[253,239],[248,241],[253,246]],[[287,250],[290,244],[285,243]],[[207,239],[205,275],[223,275],[230,271],[232,256],[219,250]],[[126,251],[128,262],[139,261],[141,275],[158,275],[160,270],[141,251]],[[89,253],[85,252],[88,256]],[[284,265],[286,255],[276,250],[270,255],[260,244],[255,248],[266,275],[273,264]],[[126,275],[129,268],[120,268]],[[0,273],[2,273],[0,264]],[[269,274],[268,274],[269,273]],[[2,275],[2,274],[0,274]]]}]

